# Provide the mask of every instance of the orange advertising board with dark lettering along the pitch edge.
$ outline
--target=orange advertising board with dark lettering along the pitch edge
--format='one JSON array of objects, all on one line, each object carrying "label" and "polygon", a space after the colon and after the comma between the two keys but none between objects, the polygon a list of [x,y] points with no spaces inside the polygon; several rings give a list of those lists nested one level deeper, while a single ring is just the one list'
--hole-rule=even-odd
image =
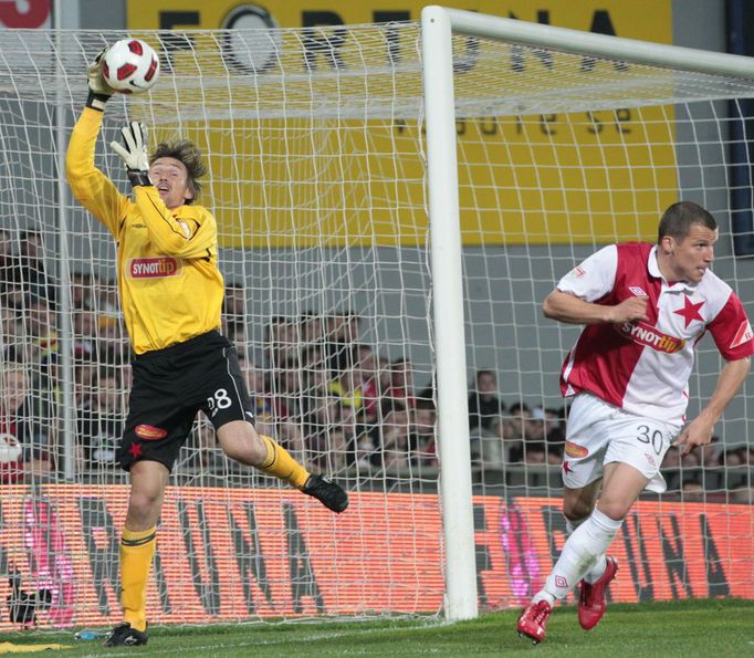
[{"label": "orange advertising board with dark lettering along the pitch edge", "polygon": [[[48,589],[40,626],[121,619],[118,542],[127,488],[7,485],[0,570]],[[557,499],[477,497],[480,606],[528,600],[565,541]],[[611,547],[612,600],[754,597],[748,505],[640,502]],[[430,494],[354,493],[336,516],[293,490],[168,488],[148,588],[153,624],[437,613],[442,526]],[[0,602],[12,583],[0,581]],[[18,627],[0,612],[0,629]]]}]

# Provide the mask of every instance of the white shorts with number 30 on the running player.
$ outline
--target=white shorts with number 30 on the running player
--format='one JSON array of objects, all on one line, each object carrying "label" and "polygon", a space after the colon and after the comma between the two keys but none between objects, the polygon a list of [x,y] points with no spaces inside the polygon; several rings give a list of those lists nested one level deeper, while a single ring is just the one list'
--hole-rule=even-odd
[{"label": "white shorts with number 30 on the running player", "polygon": [[647,489],[667,489],[660,464],[680,427],[627,414],[589,394],[580,393],[570,405],[563,455],[563,483],[580,489],[603,477],[606,463],[628,463],[649,480]]}]

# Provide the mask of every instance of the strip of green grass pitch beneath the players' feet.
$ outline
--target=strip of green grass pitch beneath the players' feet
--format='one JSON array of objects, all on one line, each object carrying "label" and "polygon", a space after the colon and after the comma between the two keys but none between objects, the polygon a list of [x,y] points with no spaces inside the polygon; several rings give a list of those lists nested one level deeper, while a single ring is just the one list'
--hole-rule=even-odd
[{"label": "strip of green grass pitch beneath the players' feet", "polygon": [[[517,610],[443,624],[426,620],[234,624],[161,627],[146,647],[105,649],[72,633],[8,633],[13,644],[57,643],[46,656],[754,656],[754,600],[692,599],[616,604],[594,630],[576,609],[555,610],[538,646],[515,631]],[[28,654],[27,654],[28,655]]]}]

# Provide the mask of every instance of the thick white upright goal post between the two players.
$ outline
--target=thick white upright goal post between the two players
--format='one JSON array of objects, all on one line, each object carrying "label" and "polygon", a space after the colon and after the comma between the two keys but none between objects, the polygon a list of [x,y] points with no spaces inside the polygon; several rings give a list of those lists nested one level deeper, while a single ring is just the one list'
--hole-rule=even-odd
[{"label": "thick white upright goal post between the two players", "polygon": [[431,233],[438,436],[446,541],[446,616],[478,614],[477,554],[471,501],[465,334],[455,157],[453,49],[448,14],[421,14],[427,121],[427,185]]}]

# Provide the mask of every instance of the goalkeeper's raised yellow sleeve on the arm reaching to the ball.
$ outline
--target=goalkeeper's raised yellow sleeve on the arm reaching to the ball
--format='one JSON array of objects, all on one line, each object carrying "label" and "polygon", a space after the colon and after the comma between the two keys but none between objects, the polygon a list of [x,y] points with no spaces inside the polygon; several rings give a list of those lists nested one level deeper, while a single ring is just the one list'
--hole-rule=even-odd
[{"label": "goalkeeper's raised yellow sleeve on the arm reaching to the ball", "polygon": [[71,133],[65,174],[73,196],[119,239],[121,220],[130,201],[94,166],[94,150],[102,127],[102,112],[84,108]]}]

